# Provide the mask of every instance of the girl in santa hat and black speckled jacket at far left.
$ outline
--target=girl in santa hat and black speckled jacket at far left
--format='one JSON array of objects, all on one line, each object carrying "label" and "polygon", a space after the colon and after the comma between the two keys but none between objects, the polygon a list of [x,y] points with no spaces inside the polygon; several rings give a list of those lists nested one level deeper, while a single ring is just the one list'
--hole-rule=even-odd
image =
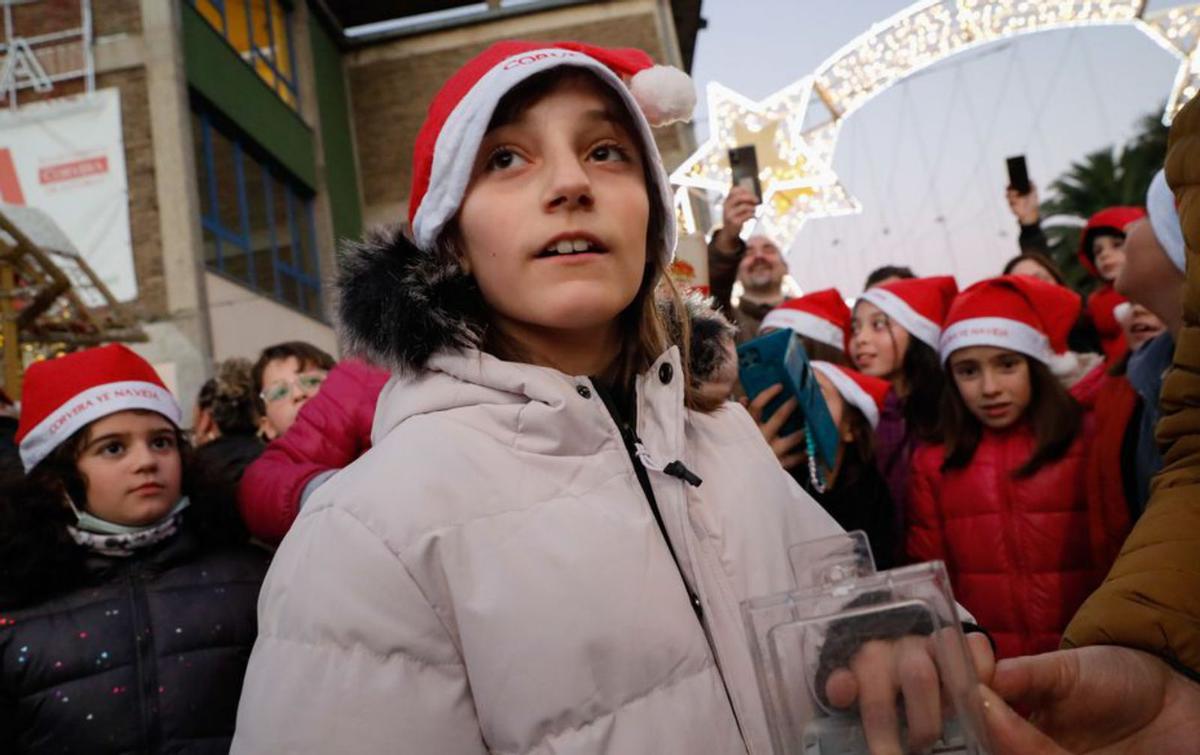
[{"label": "girl in santa hat and black speckled jacket at far left", "polygon": [[179,421],[124,346],[30,366],[26,477],[0,491],[6,753],[228,749],[269,556]]}]

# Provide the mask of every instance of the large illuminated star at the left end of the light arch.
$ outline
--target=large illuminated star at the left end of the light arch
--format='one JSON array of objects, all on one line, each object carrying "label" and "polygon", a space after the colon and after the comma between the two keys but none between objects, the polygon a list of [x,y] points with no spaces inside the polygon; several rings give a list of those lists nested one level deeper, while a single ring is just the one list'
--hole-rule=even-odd
[{"label": "large illuminated star at the left end of the light arch", "polygon": [[[811,94],[811,77],[761,102],[710,83],[708,140],[671,174],[671,181],[724,198],[733,182],[728,150],[752,144],[763,200],[758,223],[784,248],[791,246],[810,217],[860,211],[830,166],[836,132],[822,134],[820,144],[810,143],[803,133]],[[743,235],[755,229],[751,226],[746,223]]]}]

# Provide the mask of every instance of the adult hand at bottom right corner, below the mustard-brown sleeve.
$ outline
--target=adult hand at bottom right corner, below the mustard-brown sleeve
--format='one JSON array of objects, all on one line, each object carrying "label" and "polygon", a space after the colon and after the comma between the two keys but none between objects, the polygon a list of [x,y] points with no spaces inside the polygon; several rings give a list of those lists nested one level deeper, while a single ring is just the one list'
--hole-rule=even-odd
[{"label": "adult hand at bottom right corner, below the mustard-brown sleeve", "polygon": [[982,693],[996,755],[1200,753],[1200,684],[1150,653],[1093,646],[1013,658],[991,688]]}]

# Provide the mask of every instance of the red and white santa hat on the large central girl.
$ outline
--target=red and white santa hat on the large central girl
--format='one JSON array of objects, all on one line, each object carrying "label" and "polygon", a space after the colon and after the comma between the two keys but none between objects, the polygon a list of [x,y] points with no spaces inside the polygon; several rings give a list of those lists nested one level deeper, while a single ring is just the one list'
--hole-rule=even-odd
[{"label": "red and white santa hat on the large central girl", "polygon": [[659,202],[666,220],[662,253],[670,262],[676,245],[674,200],[650,126],[691,118],[696,107],[691,78],[678,68],[654,65],[640,49],[582,42],[497,42],[467,61],[442,86],[413,148],[408,220],[419,248],[431,251],[438,234],[458,212],[479,145],[500,98],[535,73],[559,66],[593,72],[620,96],[637,124],[636,136],[654,176],[650,200]]}]

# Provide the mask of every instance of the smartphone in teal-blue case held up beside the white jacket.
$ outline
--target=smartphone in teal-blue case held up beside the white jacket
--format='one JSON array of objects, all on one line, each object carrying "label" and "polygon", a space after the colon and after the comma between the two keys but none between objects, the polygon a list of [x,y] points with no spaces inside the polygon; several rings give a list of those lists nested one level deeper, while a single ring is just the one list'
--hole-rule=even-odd
[{"label": "smartphone in teal-blue case held up beside the white jacket", "polygon": [[763,419],[769,419],[785,401],[794,396],[796,409],[784,423],[780,435],[806,430],[820,460],[827,468],[834,468],[838,461],[838,429],[829,417],[821,385],[796,332],[790,328],[780,328],[739,346],[738,379],[751,401],[772,385],[782,384],[784,390],[763,408]]}]

